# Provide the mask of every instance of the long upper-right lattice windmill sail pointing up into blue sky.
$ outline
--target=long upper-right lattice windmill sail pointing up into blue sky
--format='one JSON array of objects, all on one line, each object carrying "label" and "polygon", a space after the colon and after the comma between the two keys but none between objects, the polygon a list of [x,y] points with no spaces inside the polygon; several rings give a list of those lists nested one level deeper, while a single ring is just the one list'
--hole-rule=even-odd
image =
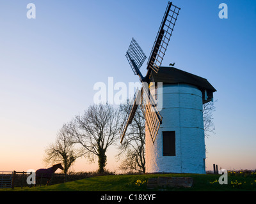
[{"label": "long upper-right lattice windmill sail pointing up into blue sky", "polygon": [[[172,2],[168,3],[168,6],[164,13],[163,21],[160,25],[159,31],[156,36],[156,40],[151,50],[150,57],[148,58],[147,69],[152,69],[156,73],[158,73],[159,67],[162,64],[164,54],[168,47],[168,43],[172,36],[173,27],[179,15],[179,11],[180,8],[174,6]],[[148,71],[147,75],[149,74],[150,71]]]}]

